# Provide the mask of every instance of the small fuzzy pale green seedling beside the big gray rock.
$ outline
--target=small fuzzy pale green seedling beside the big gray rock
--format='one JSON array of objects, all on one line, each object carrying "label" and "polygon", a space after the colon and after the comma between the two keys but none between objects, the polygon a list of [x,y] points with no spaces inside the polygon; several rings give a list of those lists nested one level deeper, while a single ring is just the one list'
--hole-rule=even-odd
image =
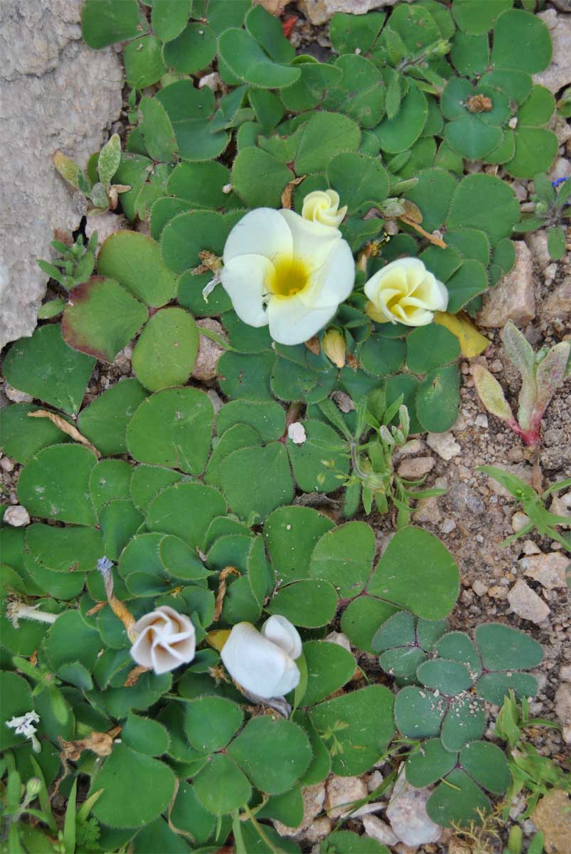
[{"label": "small fuzzy pale green seedling beside the big gray rock", "polygon": [[95,180],[84,173],[78,164],[71,160],[61,151],[54,155],[54,165],[61,177],[75,190],[84,194],[88,201],[87,213],[106,213],[109,209],[114,211],[119,203],[119,193],[131,190],[126,184],[112,184],[111,179],[119,168],[121,160],[121,141],[119,134],[114,135],[105,143],[96,158]]}]

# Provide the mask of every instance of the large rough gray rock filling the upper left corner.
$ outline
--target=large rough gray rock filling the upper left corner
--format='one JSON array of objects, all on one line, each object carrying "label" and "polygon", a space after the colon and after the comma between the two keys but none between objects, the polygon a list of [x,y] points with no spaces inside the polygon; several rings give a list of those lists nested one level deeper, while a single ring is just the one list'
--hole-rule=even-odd
[{"label": "large rough gray rock filling the upper left corner", "polygon": [[123,71],[113,48],[81,40],[82,0],[3,0],[0,32],[0,346],[32,334],[55,229],[81,210],[52,163],[57,149],[84,165],[119,117]]}]

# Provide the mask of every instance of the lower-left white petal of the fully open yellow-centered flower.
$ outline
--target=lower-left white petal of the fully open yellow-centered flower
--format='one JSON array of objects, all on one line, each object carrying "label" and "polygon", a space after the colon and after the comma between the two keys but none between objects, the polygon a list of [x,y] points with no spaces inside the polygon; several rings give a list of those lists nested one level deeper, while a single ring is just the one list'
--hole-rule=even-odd
[{"label": "lower-left white petal of the fully open yellow-centered flower", "polygon": [[270,260],[260,254],[238,255],[224,264],[220,278],[238,317],[249,326],[266,326],[266,281],[273,272]]}]

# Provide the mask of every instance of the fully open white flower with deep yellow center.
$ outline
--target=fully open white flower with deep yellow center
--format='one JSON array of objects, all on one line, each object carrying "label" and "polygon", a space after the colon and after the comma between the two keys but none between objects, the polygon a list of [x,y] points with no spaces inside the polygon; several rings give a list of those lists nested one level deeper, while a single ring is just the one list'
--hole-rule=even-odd
[{"label": "fully open white flower with deep yellow center", "polygon": [[270,325],[279,344],[300,344],[353,290],[355,264],[341,232],[290,210],[257,208],[224,246],[221,280],[238,317]]}]

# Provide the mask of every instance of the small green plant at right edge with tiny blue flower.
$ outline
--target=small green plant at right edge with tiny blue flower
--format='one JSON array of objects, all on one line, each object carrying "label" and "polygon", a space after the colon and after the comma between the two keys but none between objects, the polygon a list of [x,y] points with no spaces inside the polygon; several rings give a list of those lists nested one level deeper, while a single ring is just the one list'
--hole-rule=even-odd
[{"label": "small green plant at right edge with tiny blue flower", "polygon": [[536,175],[533,178],[535,192],[531,196],[534,208],[531,213],[525,213],[514,231],[537,231],[547,228],[547,249],[554,261],[561,260],[567,248],[568,222],[571,216],[569,196],[571,196],[571,181],[568,178],[557,178],[550,181],[546,175]]}]

